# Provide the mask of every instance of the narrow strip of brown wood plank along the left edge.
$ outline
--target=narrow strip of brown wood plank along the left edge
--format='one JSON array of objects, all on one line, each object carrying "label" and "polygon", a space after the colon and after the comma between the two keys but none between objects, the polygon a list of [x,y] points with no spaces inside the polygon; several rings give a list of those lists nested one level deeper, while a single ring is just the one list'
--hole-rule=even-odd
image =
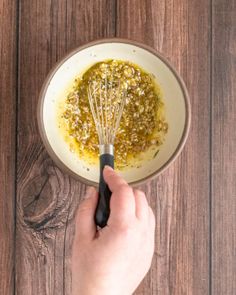
[{"label": "narrow strip of brown wood plank along the left edge", "polygon": [[16,1],[0,1],[0,292],[14,292]]}]

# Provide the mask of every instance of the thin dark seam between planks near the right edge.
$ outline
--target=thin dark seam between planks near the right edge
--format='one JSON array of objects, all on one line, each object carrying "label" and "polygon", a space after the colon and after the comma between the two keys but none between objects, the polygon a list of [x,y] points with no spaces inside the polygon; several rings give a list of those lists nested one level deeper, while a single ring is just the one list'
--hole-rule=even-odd
[{"label": "thin dark seam between planks near the right edge", "polygon": [[213,136],[213,99],[212,99],[212,93],[213,93],[213,0],[210,0],[210,114],[209,114],[209,120],[210,120],[210,130],[209,130],[209,294],[212,295],[212,175],[213,175],[213,159],[212,159],[212,136]]}]

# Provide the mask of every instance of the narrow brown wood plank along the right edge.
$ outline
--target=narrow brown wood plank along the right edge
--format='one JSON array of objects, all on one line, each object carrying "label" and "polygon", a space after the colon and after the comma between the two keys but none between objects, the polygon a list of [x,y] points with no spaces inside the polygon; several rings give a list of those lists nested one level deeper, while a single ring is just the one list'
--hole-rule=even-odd
[{"label": "narrow brown wood plank along the right edge", "polygon": [[236,1],[213,1],[212,294],[236,292]]}]

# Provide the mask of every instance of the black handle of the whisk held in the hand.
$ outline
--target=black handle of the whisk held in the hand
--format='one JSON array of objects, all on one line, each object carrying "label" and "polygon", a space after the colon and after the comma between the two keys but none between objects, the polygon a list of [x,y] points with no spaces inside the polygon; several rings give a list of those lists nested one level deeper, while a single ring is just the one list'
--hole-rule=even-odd
[{"label": "black handle of the whisk held in the hand", "polygon": [[103,169],[105,166],[114,168],[114,156],[111,154],[100,155],[100,180],[99,180],[99,198],[95,212],[95,223],[100,227],[107,225],[110,215],[111,191],[103,178]]}]

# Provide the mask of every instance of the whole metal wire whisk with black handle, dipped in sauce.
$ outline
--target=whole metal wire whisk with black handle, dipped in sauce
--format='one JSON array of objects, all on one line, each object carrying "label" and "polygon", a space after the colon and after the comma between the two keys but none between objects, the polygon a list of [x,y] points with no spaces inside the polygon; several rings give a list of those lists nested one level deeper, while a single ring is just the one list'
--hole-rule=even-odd
[{"label": "whole metal wire whisk with black handle, dipped in sauce", "polygon": [[111,191],[103,178],[105,165],[114,168],[114,141],[125,105],[126,91],[120,81],[113,78],[96,82],[88,87],[88,99],[99,139],[100,179],[99,199],[95,212],[95,223],[107,224],[110,215]]}]

